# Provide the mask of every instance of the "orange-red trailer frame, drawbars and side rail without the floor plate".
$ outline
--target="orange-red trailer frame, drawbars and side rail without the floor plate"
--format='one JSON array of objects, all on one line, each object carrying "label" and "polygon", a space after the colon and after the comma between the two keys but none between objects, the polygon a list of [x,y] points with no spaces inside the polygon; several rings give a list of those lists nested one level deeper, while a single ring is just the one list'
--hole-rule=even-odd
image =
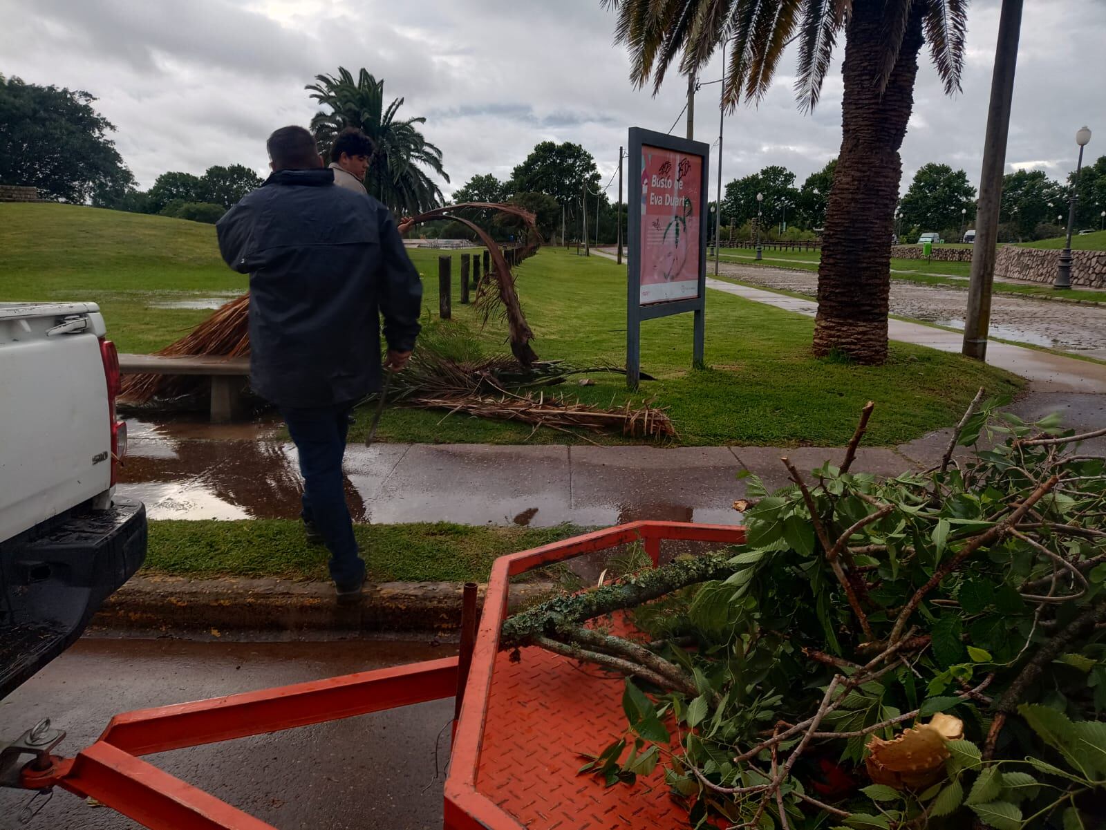
[{"label": "orange-red trailer frame, drawbars and side rail without the floor plate", "polygon": [[[744,528],[635,522],[495,560],[455,724],[445,787],[446,830],[524,830],[530,826],[518,811],[497,803],[493,795],[478,786],[481,761],[488,760],[482,758],[488,703],[511,577],[635,542],[644,545],[656,565],[660,544],[666,539],[735,544],[744,540]],[[465,673],[468,656],[462,653],[459,658],[116,715],[92,746],[73,758],[49,755],[44,761],[32,761],[24,767],[21,781],[28,789],[60,786],[77,796],[95,798],[152,830],[274,830],[142,760],[142,756],[451,697],[458,692],[458,677]],[[540,796],[540,788],[550,782],[539,778],[524,784],[539,788],[534,792]],[[615,789],[605,792],[618,798]],[[603,797],[602,792],[591,794],[596,803]]]}]

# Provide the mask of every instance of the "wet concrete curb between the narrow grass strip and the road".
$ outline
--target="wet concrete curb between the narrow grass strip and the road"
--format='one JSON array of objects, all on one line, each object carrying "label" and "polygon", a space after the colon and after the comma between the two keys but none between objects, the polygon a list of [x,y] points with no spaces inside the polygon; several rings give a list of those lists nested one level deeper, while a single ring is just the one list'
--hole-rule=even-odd
[{"label": "wet concrete curb between the narrow grass strip and the road", "polygon": [[[480,586],[483,607],[487,585]],[[461,582],[384,582],[361,602],[338,605],[330,582],[290,579],[134,577],[107,599],[92,627],[126,631],[453,631]],[[553,582],[511,586],[509,607],[556,590]]]}]

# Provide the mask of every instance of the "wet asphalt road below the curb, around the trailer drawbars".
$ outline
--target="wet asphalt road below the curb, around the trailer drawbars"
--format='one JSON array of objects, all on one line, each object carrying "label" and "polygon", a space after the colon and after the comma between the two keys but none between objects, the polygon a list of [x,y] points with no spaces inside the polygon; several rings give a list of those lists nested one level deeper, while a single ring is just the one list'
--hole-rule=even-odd
[{"label": "wet asphalt road below the curb, around the trailer drawbars", "polygon": [[[0,701],[0,735],[42,717],[69,734],[73,755],[112,715],[135,708],[436,660],[427,642],[189,642],[83,639]],[[452,698],[346,721],[178,749],[146,760],[280,830],[441,828]],[[440,739],[438,738],[441,733]],[[439,774],[435,777],[435,742]],[[0,828],[22,827],[31,794],[0,790]],[[31,830],[131,830],[104,807],[55,791]]]}]

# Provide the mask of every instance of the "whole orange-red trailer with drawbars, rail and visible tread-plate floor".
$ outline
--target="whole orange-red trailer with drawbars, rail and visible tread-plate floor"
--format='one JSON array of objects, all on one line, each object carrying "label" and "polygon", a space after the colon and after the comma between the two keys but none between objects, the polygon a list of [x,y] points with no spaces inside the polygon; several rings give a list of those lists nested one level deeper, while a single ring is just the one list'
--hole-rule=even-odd
[{"label": "whole orange-red trailer with drawbars, rail and visible tread-plate floor", "polygon": [[[626,728],[619,679],[539,648],[512,659],[499,649],[500,627],[511,578],[533,568],[636,542],[656,565],[665,540],[743,539],[742,527],[635,522],[501,557],[474,642],[462,637],[459,656],[128,712],[73,758],[52,754],[58,733],[28,733],[22,786],[95,798],[152,830],[274,830],[142,756],[457,695],[446,830],[682,827],[686,813],[668,797],[660,768],[634,788],[576,775],[578,752]],[[474,621],[472,613],[469,631]]]}]

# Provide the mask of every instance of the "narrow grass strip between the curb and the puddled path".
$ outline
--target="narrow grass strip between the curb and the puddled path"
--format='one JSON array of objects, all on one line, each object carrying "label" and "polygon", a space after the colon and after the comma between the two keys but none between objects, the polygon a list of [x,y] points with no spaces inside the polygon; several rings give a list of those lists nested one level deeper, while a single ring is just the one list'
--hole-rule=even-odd
[{"label": "narrow grass strip between the curb and the puddled path", "polygon": [[[585,530],[469,527],[449,523],[355,525],[374,582],[487,581],[497,557]],[[149,523],[144,571],[197,579],[217,576],[328,579],[326,549],[307,545],[298,519]]]}]

